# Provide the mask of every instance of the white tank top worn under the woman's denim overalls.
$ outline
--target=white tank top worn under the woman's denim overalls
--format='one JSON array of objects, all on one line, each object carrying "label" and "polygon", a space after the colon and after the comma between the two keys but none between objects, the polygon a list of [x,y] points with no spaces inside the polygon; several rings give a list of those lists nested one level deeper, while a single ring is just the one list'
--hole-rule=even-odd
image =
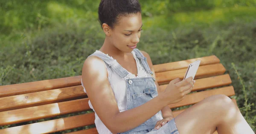
[{"label": "white tank top worn under the woman's denim overalls", "polygon": [[[96,50],[95,53],[102,53],[99,50]],[[139,59],[137,59],[136,54],[134,51],[131,52],[132,55],[134,56],[134,59],[137,64],[137,76],[134,74],[129,73],[130,78],[144,78],[144,77],[151,77],[148,73],[145,72],[143,66],[140,64]],[[104,53],[105,54],[105,53]],[[108,56],[108,54],[105,54]],[[110,56],[109,56],[110,57]],[[111,57],[111,59],[113,59]],[[123,80],[111,67],[108,67],[106,65],[106,68],[108,70],[108,81],[112,87],[113,93],[116,98],[116,103],[119,109],[119,112],[123,112],[126,110],[126,81]],[[81,80],[82,81],[82,80]],[[84,87],[83,83],[81,82],[82,86]],[[84,88],[84,92],[86,93],[86,90]],[[89,106],[91,109],[93,109],[92,104],[90,103],[89,100]],[[93,109],[94,111],[94,109]],[[95,112],[95,111],[94,111]],[[95,120],[94,123],[96,125],[97,131],[99,134],[112,134],[111,131],[108,130],[108,128],[102,123],[102,121],[99,119],[98,115],[95,112]]]}]

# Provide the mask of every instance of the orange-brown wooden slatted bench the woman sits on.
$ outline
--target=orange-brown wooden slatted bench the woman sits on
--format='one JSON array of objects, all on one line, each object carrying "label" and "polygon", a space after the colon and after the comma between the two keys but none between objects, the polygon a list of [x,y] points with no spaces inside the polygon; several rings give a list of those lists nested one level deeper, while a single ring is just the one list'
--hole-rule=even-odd
[{"label": "orange-brown wooden slatted bench the woman sits on", "polygon": [[[192,93],[171,109],[195,104],[211,95],[235,95],[231,79],[224,74],[226,69],[216,56],[154,65],[160,90],[175,78],[183,78],[189,63],[200,59],[196,83]],[[207,90],[206,90],[207,89]],[[64,114],[91,111],[88,98],[81,87],[81,76],[35,81],[23,84],[0,86],[0,126],[22,124],[31,120],[57,117]],[[235,99],[232,99],[236,103]],[[108,110],[108,109],[106,109]],[[173,112],[176,117],[185,109]],[[94,112],[42,121],[27,125],[4,128],[0,134],[41,134],[69,130],[94,124]],[[217,132],[215,132],[217,134]],[[68,134],[98,134],[96,128]]]}]

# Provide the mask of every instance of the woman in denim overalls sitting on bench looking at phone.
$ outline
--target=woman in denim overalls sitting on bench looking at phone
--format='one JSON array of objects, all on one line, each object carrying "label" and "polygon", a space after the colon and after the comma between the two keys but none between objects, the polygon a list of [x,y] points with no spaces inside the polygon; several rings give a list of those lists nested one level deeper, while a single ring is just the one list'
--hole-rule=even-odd
[{"label": "woman in denim overalls sitting on bench looking at phone", "polygon": [[150,56],[136,49],[143,26],[138,0],[102,0],[99,22],[105,41],[84,61],[81,81],[99,134],[254,134],[225,95],[173,117],[168,105],[183,100],[195,81],[177,78],[159,92]]}]

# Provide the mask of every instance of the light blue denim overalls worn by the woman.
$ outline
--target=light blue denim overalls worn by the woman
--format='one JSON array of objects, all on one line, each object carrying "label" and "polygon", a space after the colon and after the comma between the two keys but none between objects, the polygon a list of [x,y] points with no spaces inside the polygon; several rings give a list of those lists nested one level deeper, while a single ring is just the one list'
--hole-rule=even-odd
[{"label": "light blue denim overalls worn by the woman", "polygon": [[[146,78],[129,78],[128,71],[123,68],[115,59],[111,59],[109,56],[106,56],[104,53],[93,53],[90,56],[98,56],[101,58],[108,67],[112,67],[113,70],[126,81],[126,97],[127,97],[127,106],[126,110],[133,109],[137,106],[140,106],[147,101],[158,95],[157,87],[154,83],[155,79],[153,77],[153,72],[148,67],[146,58],[138,49],[134,49],[136,57],[139,59],[140,63],[144,67],[145,71],[151,75],[151,77]],[[158,120],[162,120],[162,112],[157,112],[153,117],[149,118],[140,126],[126,131],[120,134],[145,134],[151,131],[156,125]],[[134,119],[136,121],[136,119]]]}]

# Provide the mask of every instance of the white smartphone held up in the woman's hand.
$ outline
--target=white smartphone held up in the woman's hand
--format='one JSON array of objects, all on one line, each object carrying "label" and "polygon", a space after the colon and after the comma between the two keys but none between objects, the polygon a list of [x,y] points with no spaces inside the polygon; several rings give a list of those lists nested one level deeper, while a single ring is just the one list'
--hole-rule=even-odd
[{"label": "white smartphone held up in the woman's hand", "polygon": [[185,74],[185,77],[183,78],[183,80],[185,80],[186,78],[189,78],[191,76],[192,76],[192,78],[194,80],[195,74],[196,74],[196,72],[198,70],[200,62],[201,62],[200,60],[197,60],[197,61],[189,64],[189,67],[188,67],[188,69],[186,71],[186,74]]}]

